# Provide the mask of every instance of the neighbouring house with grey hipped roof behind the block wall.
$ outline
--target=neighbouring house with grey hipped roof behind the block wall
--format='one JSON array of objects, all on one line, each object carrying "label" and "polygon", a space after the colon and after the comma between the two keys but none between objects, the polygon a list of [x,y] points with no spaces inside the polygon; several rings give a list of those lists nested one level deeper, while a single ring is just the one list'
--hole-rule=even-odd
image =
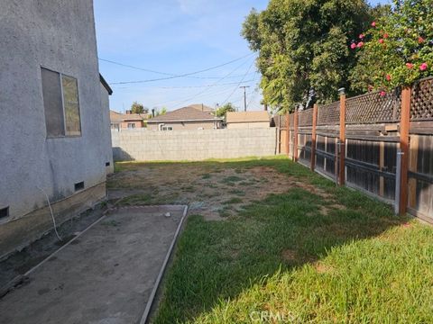
[{"label": "neighbouring house with grey hipped roof behind the block wall", "polygon": [[216,130],[222,127],[222,119],[197,107],[184,107],[147,121],[149,130]]}]

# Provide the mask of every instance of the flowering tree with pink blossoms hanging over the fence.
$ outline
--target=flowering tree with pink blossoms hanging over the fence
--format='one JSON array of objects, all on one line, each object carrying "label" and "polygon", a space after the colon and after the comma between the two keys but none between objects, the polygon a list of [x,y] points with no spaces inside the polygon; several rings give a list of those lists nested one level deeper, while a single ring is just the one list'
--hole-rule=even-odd
[{"label": "flowering tree with pink blossoms hanging over the fence", "polygon": [[433,73],[433,5],[431,0],[394,0],[392,12],[365,32],[351,80],[359,90],[410,85]]}]

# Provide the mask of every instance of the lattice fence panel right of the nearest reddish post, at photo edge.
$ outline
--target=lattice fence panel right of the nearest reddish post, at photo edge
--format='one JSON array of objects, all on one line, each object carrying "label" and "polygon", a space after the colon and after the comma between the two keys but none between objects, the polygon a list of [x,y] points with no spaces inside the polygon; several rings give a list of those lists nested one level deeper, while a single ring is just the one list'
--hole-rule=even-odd
[{"label": "lattice fence panel right of the nearest reddish post, at photo edge", "polygon": [[433,77],[413,86],[410,98],[410,120],[433,120]]}]

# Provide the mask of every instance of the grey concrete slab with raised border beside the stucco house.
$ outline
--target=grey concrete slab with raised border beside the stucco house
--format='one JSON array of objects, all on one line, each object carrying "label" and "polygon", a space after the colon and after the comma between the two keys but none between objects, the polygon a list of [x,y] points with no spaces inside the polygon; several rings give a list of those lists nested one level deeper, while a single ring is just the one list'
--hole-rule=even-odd
[{"label": "grey concrete slab with raised border beside the stucco house", "polygon": [[184,211],[112,211],[5,295],[0,323],[140,322]]}]

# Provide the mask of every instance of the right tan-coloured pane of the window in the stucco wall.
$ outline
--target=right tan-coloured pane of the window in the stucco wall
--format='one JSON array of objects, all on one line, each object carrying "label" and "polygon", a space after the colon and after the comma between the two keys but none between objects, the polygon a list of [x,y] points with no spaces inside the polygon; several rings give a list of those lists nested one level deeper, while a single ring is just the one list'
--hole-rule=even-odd
[{"label": "right tan-coloured pane of the window in the stucco wall", "polygon": [[77,79],[71,76],[61,76],[61,83],[63,85],[63,103],[65,105],[66,135],[81,135]]}]

